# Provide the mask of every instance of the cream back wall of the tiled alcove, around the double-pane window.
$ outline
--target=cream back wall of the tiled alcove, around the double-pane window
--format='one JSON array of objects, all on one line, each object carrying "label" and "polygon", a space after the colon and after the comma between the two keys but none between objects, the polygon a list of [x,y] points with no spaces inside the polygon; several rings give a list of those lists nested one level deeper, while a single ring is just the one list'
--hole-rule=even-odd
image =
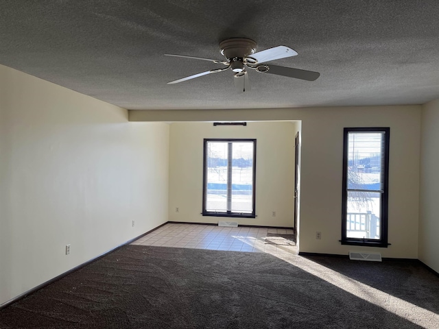
[{"label": "cream back wall of the tiled alcove, around the double-pane window", "polygon": [[[169,221],[294,226],[294,134],[298,123],[249,122],[243,126],[171,123],[169,141]],[[256,214],[254,219],[202,216],[204,138],[256,138]],[[179,212],[176,212],[176,207]],[[272,212],[276,217],[272,217]]]}]

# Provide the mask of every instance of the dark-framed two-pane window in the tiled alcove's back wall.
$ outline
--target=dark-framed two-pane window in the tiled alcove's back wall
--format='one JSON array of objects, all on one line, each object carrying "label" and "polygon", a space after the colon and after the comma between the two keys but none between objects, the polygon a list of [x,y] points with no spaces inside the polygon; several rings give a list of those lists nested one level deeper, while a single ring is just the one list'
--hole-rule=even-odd
[{"label": "dark-framed two-pane window in the tiled alcove's back wall", "polygon": [[204,216],[254,218],[256,139],[204,139]]}]

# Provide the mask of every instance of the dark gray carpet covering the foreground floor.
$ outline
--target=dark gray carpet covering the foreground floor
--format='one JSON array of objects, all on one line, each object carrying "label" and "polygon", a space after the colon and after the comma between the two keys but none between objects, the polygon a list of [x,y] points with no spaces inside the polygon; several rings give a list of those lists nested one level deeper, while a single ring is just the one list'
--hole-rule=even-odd
[{"label": "dark gray carpet covering the foreground floor", "polygon": [[1,310],[0,328],[421,328],[313,271],[439,313],[439,278],[415,262],[128,245]]}]

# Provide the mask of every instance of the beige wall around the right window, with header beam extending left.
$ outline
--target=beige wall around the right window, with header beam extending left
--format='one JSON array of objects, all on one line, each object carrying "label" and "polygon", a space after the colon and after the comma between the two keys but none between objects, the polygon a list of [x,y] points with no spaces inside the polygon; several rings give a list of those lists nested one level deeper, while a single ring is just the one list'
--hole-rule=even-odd
[{"label": "beige wall around the right window, with header beam extending left", "polygon": [[[421,106],[130,111],[132,121],[302,121],[300,252],[418,257]],[[343,127],[390,127],[388,248],[340,245]],[[195,161],[195,160],[194,160]],[[201,161],[201,160],[200,160]],[[170,203],[171,204],[171,203]],[[197,209],[197,211],[200,211]],[[316,240],[316,231],[322,239]]]}]

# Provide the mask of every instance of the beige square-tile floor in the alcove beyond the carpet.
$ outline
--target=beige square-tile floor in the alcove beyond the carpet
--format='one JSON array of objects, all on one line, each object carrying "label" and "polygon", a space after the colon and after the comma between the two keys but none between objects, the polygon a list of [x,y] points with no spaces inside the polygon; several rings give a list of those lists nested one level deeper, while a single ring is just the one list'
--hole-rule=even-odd
[{"label": "beige square-tile floor in the alcove beyond the carpet", "polygon": [[297,254],[295,245],[265,243],[267,233],[294,234],[294,231],[278,228],[224,228],[211,225],[167,223],[137,239],[132,245]]}]

